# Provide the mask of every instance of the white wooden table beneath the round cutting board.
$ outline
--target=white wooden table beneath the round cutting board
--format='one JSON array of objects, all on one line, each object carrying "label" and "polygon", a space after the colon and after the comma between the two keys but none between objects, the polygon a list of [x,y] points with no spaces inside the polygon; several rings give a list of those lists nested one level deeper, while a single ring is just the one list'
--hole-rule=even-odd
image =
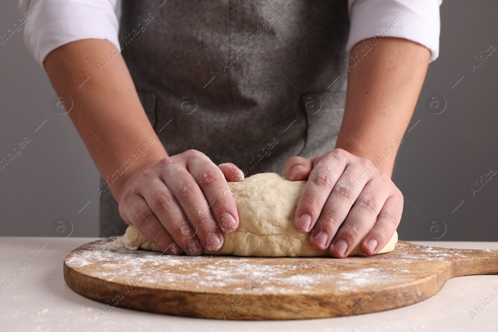
[{"label": "white wooden table beneath the round cutting board", "polygon": [[[0,286],[5,281],[8,283],[9,277],[12,277],[10,281],[18,280],[13,281],[6,290],[0,289],[0,331],[498,331],[498,275],[455,278],[449,280],[441,292],[421,303],[350,319],[221,321],[148,314],[114,307],[99,320],[97,312],[102,309],[102,303],[74,292],[65,284],[62,274],[66,254],[96,239],[1,236]],[[498,242],[413,243],[449,248],[498,249]],[[22,273],[14,274],[23,263],[25,266],[29,264],[29,267]],[[495,295],[493,300],[491,293]],[[471,316],[470,311],[476,315]]]}]

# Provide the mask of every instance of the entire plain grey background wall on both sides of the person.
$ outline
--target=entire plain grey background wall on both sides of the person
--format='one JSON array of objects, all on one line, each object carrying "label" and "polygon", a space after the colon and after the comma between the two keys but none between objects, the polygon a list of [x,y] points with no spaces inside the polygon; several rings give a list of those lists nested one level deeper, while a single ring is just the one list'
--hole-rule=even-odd
[{"label": "entire plain grey background wall on both sides of the person", "polygon": [[[492,168],[498,171],[498,52],[474,72],[470,65],[498,46],[497,15],[496,1],[445,0],[441,6],[440,56],[429,66],[393,175],[405,196],[401,239],[497,240],[498,177],[474,196],[471,187],[479,188],[475,181]],[[3,1],[0,34],[19,17],[16,1]],[[55,93],[22,31],[0,46],[0,81],[0,159],[29,139],[0,170],[0,235],[52,236],[54,221],[66,218],[71,236],[98,236],[98,171],[68,115],[52,109]],[[446,100],[440,114],[425,106],[434,93]]]}]

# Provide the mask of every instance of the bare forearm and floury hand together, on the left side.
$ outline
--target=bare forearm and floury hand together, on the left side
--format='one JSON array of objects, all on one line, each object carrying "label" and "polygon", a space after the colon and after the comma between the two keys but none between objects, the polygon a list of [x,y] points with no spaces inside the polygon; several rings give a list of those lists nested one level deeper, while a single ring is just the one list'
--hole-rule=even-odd
[{"label": "bare forearm and floury hand together, on the left side", "polygon": [[[82,39],[56,48],[43,62],[58,95],[70,97],[72,104],[64,106],[70,106],[68,115],[103,178],[115,173],[147,137],[159,141],[121,53],[105,68],[95,65],[115,53],[109,40]],[[227,184],[244,180],[235,165],[216,166],[195,150],[168,157],[158,142],[132,167],[109,189],[124,221],[166,253],[217,250],[223,245],[220,228],[230,232],[239,226]]]}]

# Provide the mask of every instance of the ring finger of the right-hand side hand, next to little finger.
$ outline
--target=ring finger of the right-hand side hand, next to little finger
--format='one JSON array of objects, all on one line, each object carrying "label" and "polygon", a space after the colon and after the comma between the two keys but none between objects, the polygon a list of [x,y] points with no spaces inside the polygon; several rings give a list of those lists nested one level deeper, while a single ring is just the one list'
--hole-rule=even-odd
[{"label": "ring finger of the right-hand side hand, next to little finger", "polygon": [[332,256],[346,257],[368,232],[389,197],[390,190],[386,186],[386,180],[388,179],[375,177],[367,183],[330,244],[329,252]]}]

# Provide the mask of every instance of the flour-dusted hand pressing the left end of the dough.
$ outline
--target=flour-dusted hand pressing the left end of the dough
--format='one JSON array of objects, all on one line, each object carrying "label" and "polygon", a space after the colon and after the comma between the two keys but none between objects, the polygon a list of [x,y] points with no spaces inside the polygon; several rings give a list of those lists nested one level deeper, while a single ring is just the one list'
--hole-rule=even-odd
[{"label": "flour-dusted hand pressing the left end of the dough", "polygon": [[234,164],[216,166],[204,153],[188,150],[128,179],[119,201],[121,217],[168,254],[218,250],[221,230],[239,226],[227,181],[243,181],[244,174]]}]

